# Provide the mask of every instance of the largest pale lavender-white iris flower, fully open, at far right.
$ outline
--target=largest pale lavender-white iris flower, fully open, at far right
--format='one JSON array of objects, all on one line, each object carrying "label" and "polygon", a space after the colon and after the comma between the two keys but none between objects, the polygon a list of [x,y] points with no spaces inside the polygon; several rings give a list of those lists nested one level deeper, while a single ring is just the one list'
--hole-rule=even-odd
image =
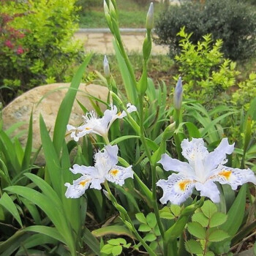
[{"label": "largest pale lavender-white iris flower, fully open, at far right", "polygon": [[225,166],[226,154],[232,154],[234,144],[230,145],[227,138],[222,139],[219,146],[209,153],[203,139],[185,139],[181,143],[182,155],[188,160],[181,162],[163,154],[159,163],[165,170],[173,170],[167,180],[159,180],[157,186],[162,187],[161,203],[169,200],[173,204],[181,204],[197,189],[201,196],[209,197],[214,203],[219,203],[219,189],[215,181],[229,184],[233,190],[246,182],[256,184],[252,170]]}]

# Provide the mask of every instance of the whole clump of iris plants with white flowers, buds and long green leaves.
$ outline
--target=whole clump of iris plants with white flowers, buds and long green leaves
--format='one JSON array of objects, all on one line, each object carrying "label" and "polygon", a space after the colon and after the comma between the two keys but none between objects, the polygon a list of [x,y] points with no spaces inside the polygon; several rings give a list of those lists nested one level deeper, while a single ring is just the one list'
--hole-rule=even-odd
[{"label": "whole clump of iris plants with white flowers, buds and long green leaves", "polygon": [[[256,227],[256,98],[245,110],[223,102],[207,110],[183,98],[178,77],[170,99],[165,83],[148,78],[153,4],[140,78],[121,42],[116,1],[104,5],[124,89],[105,56],[98,75],[108,102],[90,97],[94,111],[81,105],[82,124],[70,125],[87,56],[53,139],[40,117],[43,167],[31,158],[33,116],[25,148],[0,116],[0,255],[233,255]],[[227,138],[231,121],[236,143]]]}]

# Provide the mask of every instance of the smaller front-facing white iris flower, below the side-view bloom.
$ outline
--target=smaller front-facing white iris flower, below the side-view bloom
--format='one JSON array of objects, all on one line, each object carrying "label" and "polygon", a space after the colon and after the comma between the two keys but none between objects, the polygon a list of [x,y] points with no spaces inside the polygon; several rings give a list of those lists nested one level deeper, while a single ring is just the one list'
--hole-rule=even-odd
[{"label": "smaller front-facing white iris flower, below the side-view bloom", "polygon": [[80,178],[73,181],[73,184],[66,183],[67,198],[78,198],[86,192],[86,189],[102,189],[104,181],[110,181],[120,186],[124,185],[126,178],[133,178],[132,165],[121,167],[118,162],[118,146],[105,146],[103,151],[94,155],[95,165],[84,166],[74,165],[70,168],[74,174],[82,174]]}]

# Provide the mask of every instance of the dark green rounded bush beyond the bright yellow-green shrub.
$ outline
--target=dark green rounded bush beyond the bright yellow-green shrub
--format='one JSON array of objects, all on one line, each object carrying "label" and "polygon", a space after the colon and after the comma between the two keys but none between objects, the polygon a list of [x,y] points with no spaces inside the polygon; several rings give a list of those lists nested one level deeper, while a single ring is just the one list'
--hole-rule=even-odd
[{"label": "dark green rounded bush beyond the bright yellow-green shrub", "polygon": [[256,50],[256,14],[252,7],[241,1],[208,0],[184,1],[180,6],[170,6],[159,15],[156,33],[159,44],[169,45],[170,55],[178,53],[176,34],[186,26],[192,34],[190,40],[196,43],[203,35],[212,34],[213,39],[223,39],[222,51],[225,57],[246,59]]}]

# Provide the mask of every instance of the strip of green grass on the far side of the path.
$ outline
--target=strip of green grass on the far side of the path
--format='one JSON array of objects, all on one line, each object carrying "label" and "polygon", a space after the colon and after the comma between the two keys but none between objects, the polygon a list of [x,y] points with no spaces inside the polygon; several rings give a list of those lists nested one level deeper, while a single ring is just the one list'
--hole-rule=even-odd
[{"label": "strip of green grass on the far side of the path", "polygon": [[[148,4],[138,4],[132,0],[117,0],[119,14],[119,26],[121,28],[143,28],[145,27]],[[163,4],[155,3],[154,12],[158,15]],[[86,8],[80,12],[80,28],[107,28],[103,6]]]}]

